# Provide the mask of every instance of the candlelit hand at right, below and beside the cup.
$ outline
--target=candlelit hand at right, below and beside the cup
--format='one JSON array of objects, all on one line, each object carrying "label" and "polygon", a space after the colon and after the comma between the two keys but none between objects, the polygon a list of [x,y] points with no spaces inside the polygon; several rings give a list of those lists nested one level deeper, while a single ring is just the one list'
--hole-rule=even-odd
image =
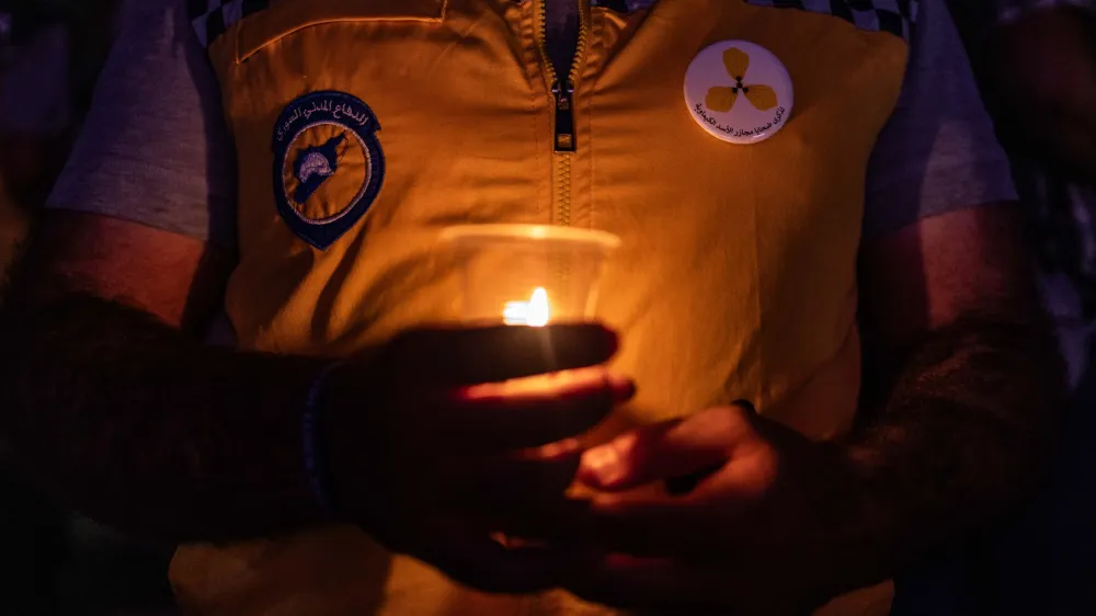
[{"label": "candlelit hand at right, below and beside the cup", "polygon": [[783,615],[842,590],[833,569],[852,480],[840,456],[749,408],[625,434],[586,452],[579,478],[595,492],[568,531],[584,545],[566,585],[587,600]]}]

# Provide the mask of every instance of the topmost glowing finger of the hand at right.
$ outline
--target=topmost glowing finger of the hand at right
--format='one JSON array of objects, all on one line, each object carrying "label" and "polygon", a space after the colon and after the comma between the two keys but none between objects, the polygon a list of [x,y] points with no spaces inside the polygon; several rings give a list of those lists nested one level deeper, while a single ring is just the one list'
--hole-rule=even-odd
[{"label": "topmost glowing finger of the hand at right", "polygon": [[720,408],[641,427],[586,452],[579,479],[600,490],[629,490],[724,464],[752,434],[745,411]]}]

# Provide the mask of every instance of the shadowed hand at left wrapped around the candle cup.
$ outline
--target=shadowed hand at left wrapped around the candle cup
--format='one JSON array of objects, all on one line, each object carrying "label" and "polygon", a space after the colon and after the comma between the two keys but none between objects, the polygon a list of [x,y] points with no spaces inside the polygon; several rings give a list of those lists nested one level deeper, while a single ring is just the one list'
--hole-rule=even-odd
[{"label": "shadowed hand at left wrapped around the candle cup", "polygon": [[390,549],[463,583],[555,585],[550,552],[491,537],[563,500],[574,437],[633,393],[600,367],[616,349],[601,326],[561,324],[416,330],[363,353],[324,401],[334,500]]}]

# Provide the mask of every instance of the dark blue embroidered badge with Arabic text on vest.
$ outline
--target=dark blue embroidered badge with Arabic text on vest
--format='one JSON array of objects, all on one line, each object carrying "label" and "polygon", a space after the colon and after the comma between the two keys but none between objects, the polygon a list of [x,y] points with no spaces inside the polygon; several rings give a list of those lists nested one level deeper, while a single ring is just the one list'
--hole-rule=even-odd
[{"label": "dark blue embroidered badge with Arabic text on vest", "polygon": [[274,199],[302,240],[323,250],[368,212],[385,180],[380,125],[345,92],[306,94],[274,125]]}]

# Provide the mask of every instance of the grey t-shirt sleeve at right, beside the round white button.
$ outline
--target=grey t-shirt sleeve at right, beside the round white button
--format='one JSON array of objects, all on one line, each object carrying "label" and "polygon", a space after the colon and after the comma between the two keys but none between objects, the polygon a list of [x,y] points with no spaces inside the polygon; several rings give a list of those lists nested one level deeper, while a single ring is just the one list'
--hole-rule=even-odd
[{"label": "grey t-shirt sleeve at right, beside the round white button", "polygon": [[1008,159],[944,0],[922,0],[902,93],[868,166],[864,237],[1015,198]]}]

